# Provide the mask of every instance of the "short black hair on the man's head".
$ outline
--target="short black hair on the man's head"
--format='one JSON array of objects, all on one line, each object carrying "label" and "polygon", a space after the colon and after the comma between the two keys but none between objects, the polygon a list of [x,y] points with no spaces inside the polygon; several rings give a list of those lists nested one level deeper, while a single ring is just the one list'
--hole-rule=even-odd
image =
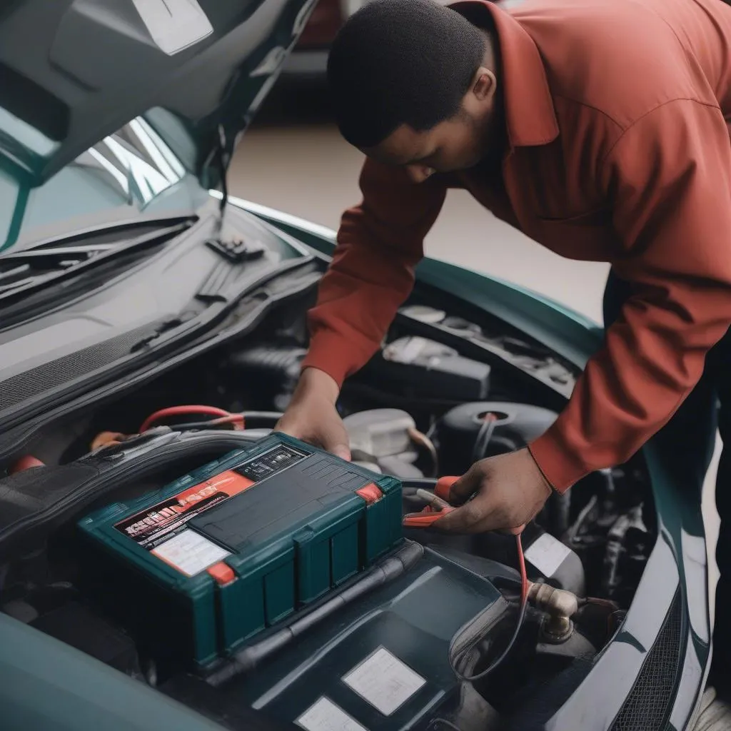
[{"label": "short black hair on the man's head", "polygon": [[485,36],[435,0],[367,1],[330,49],[327,80],[340,132],[357,148],[408,124],[423,132],[461,108]]}]

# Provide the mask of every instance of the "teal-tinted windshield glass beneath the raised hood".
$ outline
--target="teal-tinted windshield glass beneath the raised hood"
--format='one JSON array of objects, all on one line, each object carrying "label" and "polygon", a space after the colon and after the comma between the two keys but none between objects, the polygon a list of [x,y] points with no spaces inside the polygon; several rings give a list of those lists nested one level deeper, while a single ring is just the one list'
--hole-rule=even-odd
[{"label": "teal-tinted windshield glass beneath the raised hood", "polygon": [[161,213],[192,213],[205,194],[143,118],[105,137],[39,188],[0,167],[0,256],[51,236]]}]

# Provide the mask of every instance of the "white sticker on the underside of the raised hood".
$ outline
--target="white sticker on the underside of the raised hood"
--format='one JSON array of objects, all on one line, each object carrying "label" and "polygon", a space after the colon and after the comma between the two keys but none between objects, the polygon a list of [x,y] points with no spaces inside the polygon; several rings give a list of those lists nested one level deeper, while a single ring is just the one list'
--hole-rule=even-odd
[{"label": "white sticker on the underside of the raised hood", "polygon": [[197,0],[132,0],[160,50],[173,56],[210,36],[213,26]]}]

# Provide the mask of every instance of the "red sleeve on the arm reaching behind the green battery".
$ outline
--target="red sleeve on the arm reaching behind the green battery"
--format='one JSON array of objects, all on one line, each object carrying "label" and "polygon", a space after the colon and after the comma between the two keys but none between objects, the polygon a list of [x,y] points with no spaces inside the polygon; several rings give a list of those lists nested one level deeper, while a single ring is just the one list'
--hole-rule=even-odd
[{"label": "red sleeve on the arm reaching behind the green battery", "polygon": [[370,159],[360,189],[363,202],[343,215],[333,261],[308,313],[302,366],[325,371],[338,385],[374,355],[409,296],[424,237],[447,192],[439,178],[412,183],[404,170]]}]

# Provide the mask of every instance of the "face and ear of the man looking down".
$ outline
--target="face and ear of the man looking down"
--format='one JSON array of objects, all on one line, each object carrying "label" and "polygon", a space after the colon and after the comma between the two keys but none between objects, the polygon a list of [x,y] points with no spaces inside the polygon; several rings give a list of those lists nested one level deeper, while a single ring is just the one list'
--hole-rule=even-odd
[{"label": "face and ear of the man looking down", "polygon": [[382,143],[363,152],[378,162],[404,167],[414,183],[434,173],[474,167],[499,143],[493,124],[495,88],[493,73],[480,69],[454,117],[424,132],[402,124]]}]

